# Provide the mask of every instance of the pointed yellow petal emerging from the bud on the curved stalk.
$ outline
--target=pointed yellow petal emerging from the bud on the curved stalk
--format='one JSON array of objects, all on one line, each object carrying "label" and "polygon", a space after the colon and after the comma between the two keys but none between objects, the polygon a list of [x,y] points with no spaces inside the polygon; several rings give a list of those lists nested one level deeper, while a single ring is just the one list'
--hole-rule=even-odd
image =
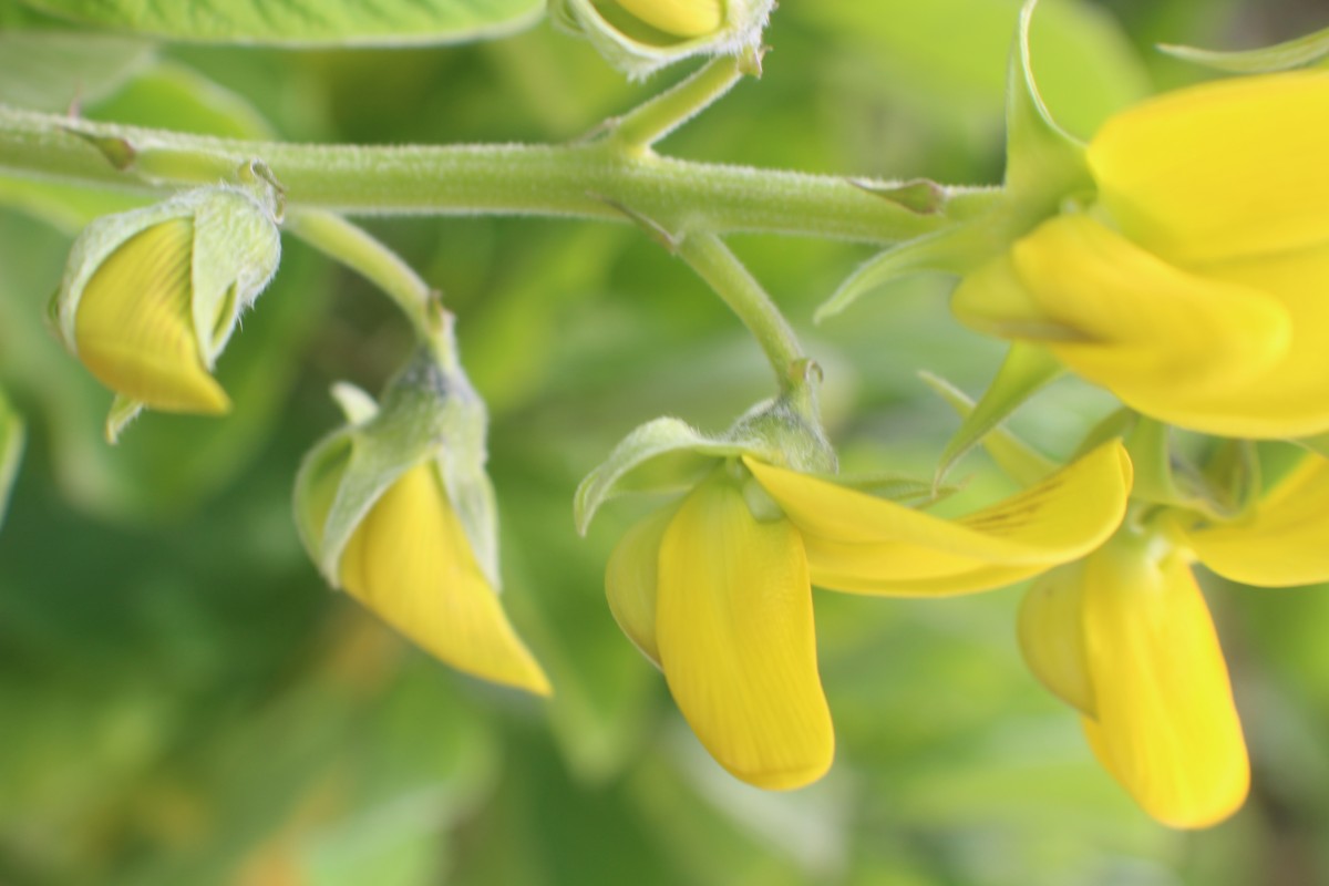
[{"label": "pointed yellow petal emerging from the bud on the curved stalk", "polygon": [[452,667],[549,695],[480,573],[432,462],[375,502],[342,555],[342,584],[375,615]]}]

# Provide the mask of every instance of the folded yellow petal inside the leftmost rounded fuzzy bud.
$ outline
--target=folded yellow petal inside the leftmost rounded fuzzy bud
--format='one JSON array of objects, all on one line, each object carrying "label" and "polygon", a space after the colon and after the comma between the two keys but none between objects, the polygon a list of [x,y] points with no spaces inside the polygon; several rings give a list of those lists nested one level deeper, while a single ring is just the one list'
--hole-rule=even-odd
[{"label": "folded yellow petal inside the leftmost rounded fuzzy bud", "polygon": [[84,287],[74,345],[112,391],[153,409],[218,414],[230,400],[194,337],[193,240],[187,219],[158,222],[125,240]]}]

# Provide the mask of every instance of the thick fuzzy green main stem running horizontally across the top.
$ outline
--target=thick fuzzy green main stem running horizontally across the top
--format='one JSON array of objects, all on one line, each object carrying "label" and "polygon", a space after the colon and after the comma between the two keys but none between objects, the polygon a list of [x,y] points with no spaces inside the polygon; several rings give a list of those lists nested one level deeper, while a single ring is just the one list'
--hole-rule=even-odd
[{"label": "thick fuzzy green main stem running horizontally across the top", "polygon": [[[89,139],[120,138],[134,151],[117,170]],[[197,163],[158,163],[215,157]],[[0,108],[0,170],[88,186],[170,193],[217,181],[217,169],[262,158],[291,207],[346,214],[521,214],[623,222],[621,206],[670,230],[762,231],[894,243],[973,213],[948,191],[942,211],[920,214],[832,175],[623,157],[605,143],[360,147],[219,139],[94,124]],[[138,166],[152,169],[152,175]],[[165,169],[163,169],[165,167]],[[162,173],[169,173],[163,175]],[[882,187],[888,185],[882,183]]]}]

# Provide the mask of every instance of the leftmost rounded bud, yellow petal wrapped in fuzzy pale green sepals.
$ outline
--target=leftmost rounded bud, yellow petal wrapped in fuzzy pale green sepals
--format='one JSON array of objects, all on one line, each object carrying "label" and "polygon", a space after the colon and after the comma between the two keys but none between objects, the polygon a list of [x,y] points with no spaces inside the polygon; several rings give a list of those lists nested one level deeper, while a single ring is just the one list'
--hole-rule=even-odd
[{"label": "leftmost rounded bud, yellow petal wrapped in fuzzy pale green sepals", "polygon": [[60,335],[125,401],[223,413],[230,400],[211,369],[280,251],[270,190],[203,187],[100,218],[69,254]]}]

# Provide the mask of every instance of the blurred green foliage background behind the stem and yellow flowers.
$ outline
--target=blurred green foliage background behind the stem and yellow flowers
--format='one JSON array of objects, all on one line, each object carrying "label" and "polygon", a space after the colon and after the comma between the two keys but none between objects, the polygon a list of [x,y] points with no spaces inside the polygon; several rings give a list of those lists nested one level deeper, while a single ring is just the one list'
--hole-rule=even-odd
[{"label": "blurred green foliage background behind the stem and yellow flowers", "polygon": [[[788,0],[760,82],[662,149],[820,173],[997,182],[1015,0]],[[40,24],[40,23],[39,23]],[[631,85],[548,24],[461,48],[291,52],[68,41],[0,0],[0,100],[318,142],[563,141],[672,82]],[[1263,45],[1317,3],[1049,3],[1054,113],[1087,135],[1203,72],[1158,41]],[[44,43],[43,43],[44,41]],[[686,68],[686,66],[684,66]],[[1329,595],[1207,580],[1255,764],[1245,809],[1154,824],[1025,671],[1018,588],[940,602],[816,592],[836,765],[763,793],[700,749],[618,632],[602,569],[642,505],[573,530],[578,480],[633,426],[720,429],[767,396],[756,347],[627,226],[372,219],[460,316],[492,414],[506,604],[548,703],[461,677],[328,591],[290,519],[299,458],[409,345],[385,299],[299,243],[221,360],[222,421],[149,414],[112,449],[109,395],[44,329],[78,227],[128,206],[0,177],[0,387],[29,441],[0,531],[0,883],[1309,885],[1329,882]],[[863,246],[732,243],[825,369],[849,468],[930,476],[1001,349],[906,280],[820,328]],[[1059,383],[1017,416],[1065,456],[1111,408]],[[958,472],[1003,489],[981,456]],[[1208,578],[1208,576],[1207,576]]]}]

